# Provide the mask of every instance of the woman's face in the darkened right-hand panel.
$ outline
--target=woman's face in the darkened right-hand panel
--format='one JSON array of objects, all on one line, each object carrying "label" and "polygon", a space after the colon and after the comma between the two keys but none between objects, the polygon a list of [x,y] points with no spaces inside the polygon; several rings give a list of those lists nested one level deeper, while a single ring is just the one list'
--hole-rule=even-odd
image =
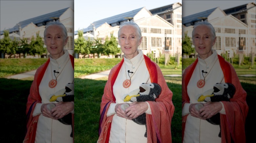
[{"label": "woman's face in the darkened right-hand panel", "polygon": [[206,25],[198,25],[194,29],[193,45],[199,57],[206,59],[212,55],[212,46],[216,38],[213,38],[211,29]]}]

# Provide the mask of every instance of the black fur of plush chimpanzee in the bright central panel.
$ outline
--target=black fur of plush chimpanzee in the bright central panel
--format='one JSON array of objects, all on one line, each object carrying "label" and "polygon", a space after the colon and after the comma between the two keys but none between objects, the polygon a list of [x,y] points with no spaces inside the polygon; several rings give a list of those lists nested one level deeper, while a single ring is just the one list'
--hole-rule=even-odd
[{"label": "black fur of plush chimpanzee in the bright central panel", "polygon": [[[143,83],[144,84],[144,83]],[[153,88],[149,88],[149,93],[146,89],[144,89],[142,87],[142,85],[140,85],[140,95],[138,97],[136,97],[136,101],[137,102],[145,102],[145,101],[155,101],[155,99],[160,95],[161,93],[161,87],[159,84],[157,83],[151,83],[148,84],[148,86],[152,86]],[[148,93],[148,94],[147,94]],[[145,137],[147,137],[147,124],[146,124],[146,113],[141,114],[140,116],[138,116],[135,119],[132,119],[135,123],[139,124],[139,125],[146,125],[146,133],[144,134]]]}]

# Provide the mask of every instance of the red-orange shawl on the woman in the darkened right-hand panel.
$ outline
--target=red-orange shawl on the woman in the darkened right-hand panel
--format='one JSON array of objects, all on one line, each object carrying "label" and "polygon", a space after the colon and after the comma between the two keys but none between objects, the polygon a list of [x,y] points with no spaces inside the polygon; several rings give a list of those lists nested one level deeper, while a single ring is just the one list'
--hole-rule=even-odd
[{"label": "red-orange shawl on the woman in the darkened right-hand panel", "polygon": [[[225,107],[226,115],[221,114],[221,141],[222,143],[245,142],[245,119],[248,113],[248,105],[246,104],[246,92],[241,86],[235,69],[233,66],[218,55],[221,69],[224,74],[226,83],[232,83],[236,87],[236,93],[230,102],[222,102]],[[182,108],[185,103],[189,103],[187,94],[187,85],[192,73],[197,65],[198,59],[188,66],[182,76]],[[182,117],[182,142],[187,115]]]}]

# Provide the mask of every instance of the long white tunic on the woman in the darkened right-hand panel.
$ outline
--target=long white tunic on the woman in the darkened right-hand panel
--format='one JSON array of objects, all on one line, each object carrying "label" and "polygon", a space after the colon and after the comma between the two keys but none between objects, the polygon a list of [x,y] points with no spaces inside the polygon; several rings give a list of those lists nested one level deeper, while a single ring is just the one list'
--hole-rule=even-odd
[{"label": "long white tunic on the woman in the darkened right-hand panel", "polygon": [[[207,71],[208,73],[203,74],[205,77],[204,87],[198,88],[198,80],[203,79],[202,70]],[[221,142],[221,138],[218,137],[220,126],[213,125],[206,120],[191,116],[188,109],[190,104],[199,103],[196,99],[196,95],[202,94],[208,89],[212,89],[216,83],[224,83],[224,74],[220,67],[217,52],[213,50],[213,54],[204,60],[198,57],[198,63],[187,86],[187,93],[190,99],[190,103],[186,103],[182,109],[182,116],[188,114],[183,143]],[[220,111],[220,113],[225,114],[224,108]]]}]

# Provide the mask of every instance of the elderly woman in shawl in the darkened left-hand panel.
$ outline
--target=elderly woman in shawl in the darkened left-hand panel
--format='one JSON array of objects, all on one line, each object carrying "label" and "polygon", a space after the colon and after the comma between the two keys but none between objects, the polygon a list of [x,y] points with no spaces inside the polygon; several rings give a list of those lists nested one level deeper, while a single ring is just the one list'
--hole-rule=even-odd
[{"label": "elderly woman in shawl in the darkened left-hand panel", "polygon": [[[27,134],[24,143],[71,143],[72,126],[58,121],[69,113],[73,113],[74,102],[55,102],[50,111],[50,94],[74,83],[74,57],[64,49],[67,44],[67,30],[60,22],[49,23],[44,31],[44,43],[50,58],[40,66],[34,76],[27,102]],[[73,120],[74,127],[74,120]],[[73,130],[74,131],[74,130]]]}]

